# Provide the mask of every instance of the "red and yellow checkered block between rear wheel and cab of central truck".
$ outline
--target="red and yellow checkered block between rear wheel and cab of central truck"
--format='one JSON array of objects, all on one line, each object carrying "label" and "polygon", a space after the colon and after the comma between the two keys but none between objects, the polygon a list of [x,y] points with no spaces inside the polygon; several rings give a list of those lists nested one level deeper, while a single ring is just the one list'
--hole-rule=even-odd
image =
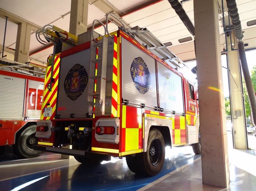
[{"label": "red and yellow checkered block between rear wheel and cab of central truck", "polygon": [[173,115],[173,146],[186,144],[185,116]]}]

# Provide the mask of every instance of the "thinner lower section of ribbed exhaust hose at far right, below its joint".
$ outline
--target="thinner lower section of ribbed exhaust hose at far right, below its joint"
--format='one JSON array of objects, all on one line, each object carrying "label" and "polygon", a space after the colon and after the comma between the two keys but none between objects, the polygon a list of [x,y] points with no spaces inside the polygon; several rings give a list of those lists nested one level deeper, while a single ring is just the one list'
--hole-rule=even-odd
[{"label": "thinner lower section of ribbed exhaust hose at far right, below its joint", "polygon": [[245,86],[249,97],[253,123],[256,124],[256,97],[252,85],[252,79],[250,76],[249,68],[247,65],[246,55],[244,51],[244,42],[238,42],[238,54],[240,58],[241,68],[243,71]]}]

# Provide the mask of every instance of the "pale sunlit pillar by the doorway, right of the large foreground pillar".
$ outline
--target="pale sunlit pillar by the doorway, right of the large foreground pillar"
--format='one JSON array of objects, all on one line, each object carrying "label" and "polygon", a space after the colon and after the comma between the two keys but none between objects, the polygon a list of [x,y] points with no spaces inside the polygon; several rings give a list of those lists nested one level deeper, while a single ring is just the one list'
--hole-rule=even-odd
[{"label": "pale sunlit pillar by the doorway, right of the large foreground pillar", "polygon": [[[233,47],[231,47],[232,45]],[[248,149],[246,139],[247,131],[244,98],[242,96],[242,74],[239,64],[238,51],[236,49],[237,41],[236,37],[234,37],[234,31],[232,31],[230,37],[227,37],[227,67],[230,70],[228,76],[230,89],[230,109],[233,124],[233,147],[234,149]]]}]

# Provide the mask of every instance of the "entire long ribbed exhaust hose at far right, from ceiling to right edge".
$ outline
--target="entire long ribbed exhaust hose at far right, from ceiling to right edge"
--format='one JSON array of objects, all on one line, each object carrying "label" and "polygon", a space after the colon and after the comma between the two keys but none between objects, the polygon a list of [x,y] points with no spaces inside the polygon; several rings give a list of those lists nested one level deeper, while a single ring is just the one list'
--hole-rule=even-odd
[{"label": "entire long ribbed exhaust hose at far right, from ceiling to right edge", "polygon": [[229,10],[230,18],[234,26],[234,32],[235,32],[236,38],[238,39],[238,54],[240,58],[240,64],[241,64],[241,68],[244,76],[245,86],[248,92],[253,123],[254,125],[256,125],[256,97],[255,97],[255,91],[252,85],[252,79],[250,76],[249,68],[247,65],[247,60],[246,60],[246,55],[244,50],[242,26],[241,26],[241,22],[240,22],[238,10],[237,10],[236,0],[226,0],[226,1],[227,1],[227,8]]}]

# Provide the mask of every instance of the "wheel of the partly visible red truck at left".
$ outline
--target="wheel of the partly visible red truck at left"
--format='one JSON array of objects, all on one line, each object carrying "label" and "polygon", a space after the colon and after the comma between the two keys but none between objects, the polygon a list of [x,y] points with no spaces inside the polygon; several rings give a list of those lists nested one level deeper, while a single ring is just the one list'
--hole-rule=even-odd
[{"label": "wheel of the partly visible red truck at left", "polygon": [[36,125],[30,125],[26,127],[17,137],[16,143],[14,145],[14,154],[24,157],[33,158],[38,157],[43,154],[43,151],[37,151],[32,149],[33,145],[37,144]]}]

